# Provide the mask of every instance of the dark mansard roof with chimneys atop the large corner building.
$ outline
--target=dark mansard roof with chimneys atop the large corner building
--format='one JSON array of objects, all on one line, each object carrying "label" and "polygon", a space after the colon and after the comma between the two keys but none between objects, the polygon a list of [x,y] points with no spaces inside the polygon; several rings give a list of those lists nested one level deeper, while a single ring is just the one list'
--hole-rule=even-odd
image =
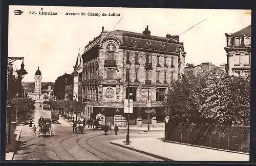
[{"label": "dark mansard roof with chimneys atop the large corner building", "polygon": [[179,41],[179,36],[171,36],[169,34],[166,37],[159,37],[151,35],[148,27],[143,33],[135,33],[123,30],[114,30],[111,32],[102,31],[101,34],[90,41],[86,45],[84,52],[89,51],[94,46],[100,46],[100,44],[108,38],[115,38],[118,40],[121,48],[136,48],[136,49],[148,49],[158,50],[163,52],[177,52],[179,48],[184,50],[183,42]]}]

